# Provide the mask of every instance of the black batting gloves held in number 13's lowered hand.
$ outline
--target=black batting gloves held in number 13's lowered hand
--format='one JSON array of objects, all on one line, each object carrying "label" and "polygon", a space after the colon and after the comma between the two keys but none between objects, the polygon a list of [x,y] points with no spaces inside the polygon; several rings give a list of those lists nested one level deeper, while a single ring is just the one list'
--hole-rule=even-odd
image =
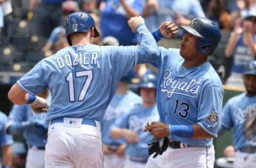
[{"label": "black batting gloves held in number 13's lowered hand", "polygon": [[151,155],[155,153],[153,158],[155,158],[158,154],[162,155],[165,150],[168,148],[169,145],[169,139],[168,137],[164,138],[153,138],[148,142],[148,154]]}]

